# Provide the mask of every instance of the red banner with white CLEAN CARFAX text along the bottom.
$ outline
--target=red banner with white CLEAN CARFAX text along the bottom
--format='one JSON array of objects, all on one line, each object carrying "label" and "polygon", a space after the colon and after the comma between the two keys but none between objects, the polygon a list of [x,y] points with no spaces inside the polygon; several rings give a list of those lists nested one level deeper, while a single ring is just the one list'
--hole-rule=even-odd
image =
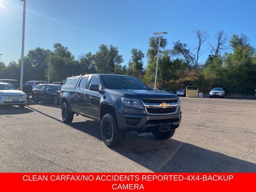
[{"label": "red banner with white CLEAN CARFAX text along the bottom", "polygon": [[1,191],[255,191],[256,173],[0,173]]}]

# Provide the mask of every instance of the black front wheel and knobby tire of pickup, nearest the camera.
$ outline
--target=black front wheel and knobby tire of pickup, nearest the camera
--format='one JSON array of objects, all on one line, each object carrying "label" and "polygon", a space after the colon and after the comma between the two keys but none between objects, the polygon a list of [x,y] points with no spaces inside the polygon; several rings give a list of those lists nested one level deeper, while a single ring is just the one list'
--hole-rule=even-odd
[{"label": "black front wheel and knobby tire of pickup, nearest the camera", "polygon": [[106,113],[101,121],[102,140],[109,148],[120,146],[124,141],[125,132],[118,128],[114,113]]}]

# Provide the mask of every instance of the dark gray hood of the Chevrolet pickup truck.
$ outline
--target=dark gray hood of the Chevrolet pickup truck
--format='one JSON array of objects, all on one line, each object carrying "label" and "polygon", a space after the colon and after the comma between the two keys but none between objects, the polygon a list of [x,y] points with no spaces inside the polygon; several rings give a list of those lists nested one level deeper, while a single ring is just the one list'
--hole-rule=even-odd
[{"label": "dark gray hood of the Chevrolet pickup truck", "polygon": [[134,99],[178,99],[178,96],[169,92],[154,91],[154,90],[138,90],[138,89],[113,89],[112,93],[121,97]]}]

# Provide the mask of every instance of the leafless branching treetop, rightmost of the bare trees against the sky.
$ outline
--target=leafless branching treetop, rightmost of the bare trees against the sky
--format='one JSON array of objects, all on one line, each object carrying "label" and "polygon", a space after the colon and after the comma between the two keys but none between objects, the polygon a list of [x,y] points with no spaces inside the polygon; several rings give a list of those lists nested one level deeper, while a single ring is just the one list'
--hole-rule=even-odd
[{"label": "leafless branching treetop, rightmost of the bare trees against the sky", "polygon": [[228,37],[224,34],[224,30],[219,30],[214,37],[217,40],[216,44],[210,44],[212,50],[212,55],[218,57],[220,51],[226,48],[226,43],[228,42]]}]

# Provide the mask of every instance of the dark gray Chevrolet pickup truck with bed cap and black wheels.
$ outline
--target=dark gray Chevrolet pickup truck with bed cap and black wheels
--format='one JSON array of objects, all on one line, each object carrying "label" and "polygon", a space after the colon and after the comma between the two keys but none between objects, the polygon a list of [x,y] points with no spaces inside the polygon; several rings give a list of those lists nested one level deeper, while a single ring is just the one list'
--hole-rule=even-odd
[{"label": "dark gray Chevrolet pickup truck with bed cap and black wheels", "polygon": [[174,135],[181,121],[178,96],[148,88],[137,78],[114,74],[69,77],[60,91],[62,120],[74,114],[101,122],[108,147],[122,144],[126,132],[152,132],[156,138]]}]

